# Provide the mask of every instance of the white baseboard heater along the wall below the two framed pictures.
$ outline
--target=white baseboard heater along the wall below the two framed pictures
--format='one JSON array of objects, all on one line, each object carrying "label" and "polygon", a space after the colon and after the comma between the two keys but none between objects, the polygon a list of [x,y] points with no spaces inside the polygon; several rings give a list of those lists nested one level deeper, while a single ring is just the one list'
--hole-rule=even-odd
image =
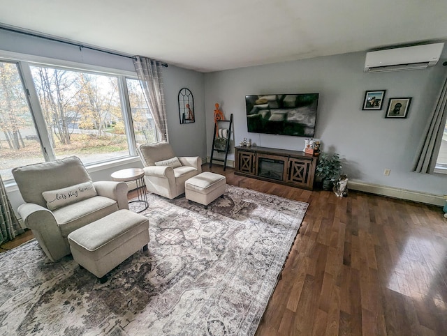
[{"label": "white baseboard heater along the wall below the two framed pictures", "polygon": [[443,195],[428,194],[427,192],[417,192],[400,188],[387,187],[386,185],[377,185],[361,181],[349,180],[348,188],[381,196],[393,197],[397,199],[406,199],[407,201],[416,201],[419,203],[432,204],[434,206],[444,206],[446,200]]}]

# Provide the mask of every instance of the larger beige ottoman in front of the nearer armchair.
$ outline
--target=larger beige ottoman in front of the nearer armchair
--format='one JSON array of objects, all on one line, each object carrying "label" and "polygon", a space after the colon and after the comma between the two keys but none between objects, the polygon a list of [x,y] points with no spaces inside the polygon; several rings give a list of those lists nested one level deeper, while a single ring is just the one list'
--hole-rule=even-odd
[{"label": "larger beige ottoman in front of the nearer armchair", "polygon": [[129,210],[119,210],[68,234],[73,259],[90,273],[107,281],[106,274],[132,254],[147,250],[149,220]]}]

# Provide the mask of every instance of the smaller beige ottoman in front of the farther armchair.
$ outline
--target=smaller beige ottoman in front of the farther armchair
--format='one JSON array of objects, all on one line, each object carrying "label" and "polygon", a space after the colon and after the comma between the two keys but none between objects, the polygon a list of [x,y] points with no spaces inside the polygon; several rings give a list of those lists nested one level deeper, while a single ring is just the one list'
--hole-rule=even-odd
[{"label": "smaller beige ottoman in front of the farther armchair", "polygon": [[189,202],[203,204],[205,209],[217,197],[222,196],[226,188],[226,177],[204,171],[184,183],[184,196]]}]

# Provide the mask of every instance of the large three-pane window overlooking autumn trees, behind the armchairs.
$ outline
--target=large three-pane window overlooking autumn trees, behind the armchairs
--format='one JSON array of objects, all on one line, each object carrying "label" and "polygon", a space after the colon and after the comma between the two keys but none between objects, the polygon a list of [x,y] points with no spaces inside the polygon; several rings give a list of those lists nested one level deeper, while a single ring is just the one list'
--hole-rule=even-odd
[{"label": "large three-pane window overlooking autumn trees, behind the armchairs", "polygon": [[3,180],[70,155],[87,166],[130,157],[158,138],[138,79],[21,61],[0,61],[0,132]]}]

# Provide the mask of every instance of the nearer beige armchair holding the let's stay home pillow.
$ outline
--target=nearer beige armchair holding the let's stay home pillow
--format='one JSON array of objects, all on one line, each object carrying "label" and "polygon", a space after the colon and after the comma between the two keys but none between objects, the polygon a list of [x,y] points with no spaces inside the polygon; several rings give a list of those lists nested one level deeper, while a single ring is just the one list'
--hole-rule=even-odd
[{"label": "nearer beige armchair holding the let's stay home pillow", "polygon": [[128,209],[124,182],[92,182],[79,158],[13,169],[25,203],[17,212],[51,261],[70,254],[67,236],[119,209]]}]

